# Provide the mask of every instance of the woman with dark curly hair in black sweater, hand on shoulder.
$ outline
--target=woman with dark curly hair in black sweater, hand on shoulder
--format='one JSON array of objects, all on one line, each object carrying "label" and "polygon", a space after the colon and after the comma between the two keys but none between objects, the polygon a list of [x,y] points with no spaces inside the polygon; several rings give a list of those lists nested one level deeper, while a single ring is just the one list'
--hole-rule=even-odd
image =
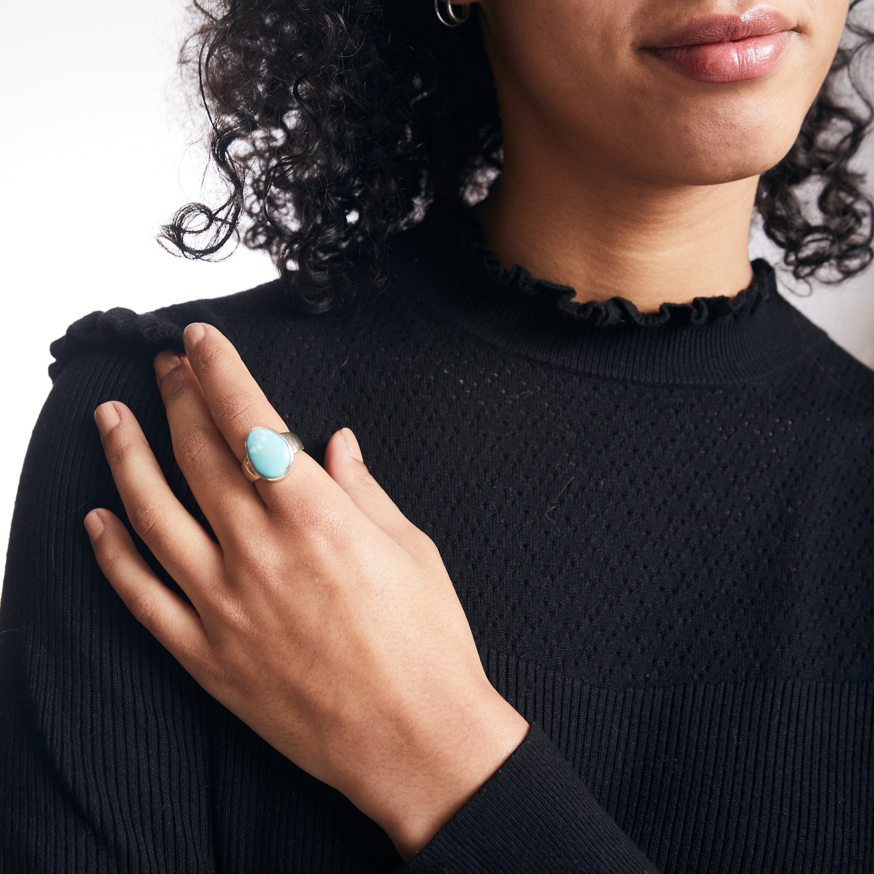
[{"label": "woman with dark curly hair in black sweater, hand on shoulder", "polygon": [[200,10],[281,277],[52,345],[4,870],[874,868],[874,374],[747,255],[870,263],[874,34],[473,7]]}]

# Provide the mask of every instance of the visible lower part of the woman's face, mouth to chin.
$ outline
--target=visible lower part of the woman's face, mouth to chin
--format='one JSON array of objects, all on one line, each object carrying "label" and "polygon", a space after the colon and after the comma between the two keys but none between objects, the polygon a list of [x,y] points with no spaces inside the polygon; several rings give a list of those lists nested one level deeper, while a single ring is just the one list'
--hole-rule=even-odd
[{"label": "visible lower part of the woman's face, mouth to chin", "polygon": [[[480,3],[508,156],[514,140],[534,136],[539,149],[587,170],[701,185],[757,175],[787,154],[829,72],[850,0]],[[690,73],[648,48],[688,42],[678,31],[714,16],[789,30],[731,49],[664,53],[685,56]],[[722,27],[705,25],[705,38]],[[726,52],[735,51],[742,72],[732,80],[738,65]]]}]

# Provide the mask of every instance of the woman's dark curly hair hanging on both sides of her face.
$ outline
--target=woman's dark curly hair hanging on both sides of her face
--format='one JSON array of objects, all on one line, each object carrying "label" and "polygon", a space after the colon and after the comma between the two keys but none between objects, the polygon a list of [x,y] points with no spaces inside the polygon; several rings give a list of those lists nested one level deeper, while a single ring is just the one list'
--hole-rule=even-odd
[{"label": "woman's dark curly hair hanging on both sides of her face", "polygon": [[[760,177],[762,228],[799,279],[830,269],[817,278],[836,284],[874,258],[874,204],[850,169],[874,116],[853,63],[874,43],[852,20],[861,2],[846,24],[857,39],[842,39],[792,149]],[[410,0],[199,0],[192,13],[180,62],[229,193],[163,225],[159,239],[184,256],[210,258],[242,237],[272,254],[295,306],[321,313],[362,276],[385,285],[388,242],[434,198],[472,205],[500,173],[479,27],[448,30]],[[843,99],[842,73],[865,114]],[[815,198],[800,197],[805,185]]]}]

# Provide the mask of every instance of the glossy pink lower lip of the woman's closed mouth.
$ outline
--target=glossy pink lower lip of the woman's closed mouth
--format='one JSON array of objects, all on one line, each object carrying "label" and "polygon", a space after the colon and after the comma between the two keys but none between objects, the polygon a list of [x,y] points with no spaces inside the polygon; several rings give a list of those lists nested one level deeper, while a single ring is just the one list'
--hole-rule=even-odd
[{"label": "glossy pink lower lip of the woman's closed mouth", "polygon": [[770,73],[789,47],[792,31],[762,34],[734,42],[678,45],[649,52],[699,82],[743,82]]}]

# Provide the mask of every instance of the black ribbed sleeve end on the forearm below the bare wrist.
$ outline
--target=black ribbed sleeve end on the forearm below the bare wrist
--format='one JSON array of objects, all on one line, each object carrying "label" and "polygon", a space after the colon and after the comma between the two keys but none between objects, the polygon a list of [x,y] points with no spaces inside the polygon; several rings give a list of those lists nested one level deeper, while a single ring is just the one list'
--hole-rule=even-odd
[{"label": "black ribbed sleeve end on the forearm below the bare wrist", "polygon": [[402,874],[658,874],[539,725]]}]

